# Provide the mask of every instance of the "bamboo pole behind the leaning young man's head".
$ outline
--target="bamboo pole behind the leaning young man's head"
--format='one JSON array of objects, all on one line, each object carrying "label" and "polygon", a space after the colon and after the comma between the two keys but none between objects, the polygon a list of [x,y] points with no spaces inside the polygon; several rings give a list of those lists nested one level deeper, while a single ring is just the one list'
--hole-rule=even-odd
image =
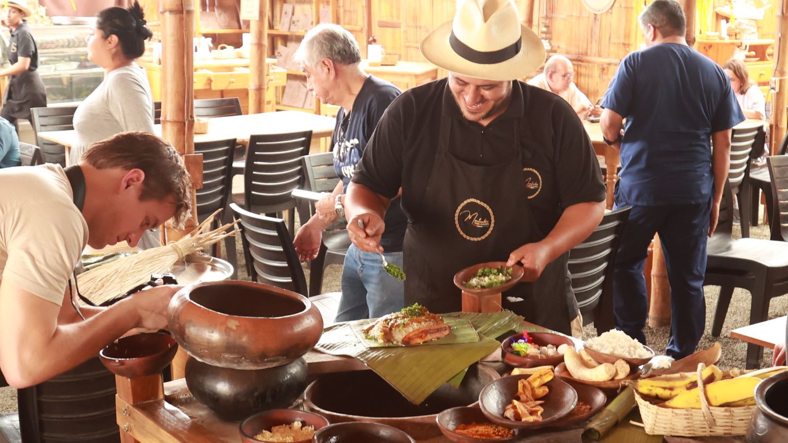
[{"label": "bamboo pole behind the leaning young man's head", "polygon": [[[194,3],[192,0],[160,0],[162,23],[162,137],[184,156],[191,174],[191,217],[184,229],[167,229],[170,240],[191,232],[197,225],[195,189],[203,187],[203,156],[194,144]],[[184,352],[173,359],[173,379],[184,376]]]}]

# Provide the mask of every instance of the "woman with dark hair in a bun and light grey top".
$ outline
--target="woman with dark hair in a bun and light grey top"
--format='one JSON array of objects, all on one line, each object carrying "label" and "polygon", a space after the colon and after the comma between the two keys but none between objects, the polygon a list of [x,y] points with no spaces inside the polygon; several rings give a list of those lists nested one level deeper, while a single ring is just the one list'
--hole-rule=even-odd
[{"label": "woman with dark hair in a bun and light grey top", "polygon": [[[104,80],[74,113],[77,141],[70,164],[91,144],[120,132],[153,132],[153,95],[145,69],[134,61],[153,36],[138,2],[128,8],[103,9],[87,40],[87,59],[104,68]],[[158,246],[158,230],[147,231],[139,248]]]}]

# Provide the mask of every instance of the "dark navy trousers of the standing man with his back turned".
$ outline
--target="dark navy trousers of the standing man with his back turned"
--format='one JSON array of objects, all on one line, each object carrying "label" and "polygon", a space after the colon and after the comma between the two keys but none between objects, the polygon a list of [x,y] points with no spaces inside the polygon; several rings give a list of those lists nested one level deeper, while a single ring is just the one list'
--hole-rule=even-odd
[{"label": "dark navy trousers of the standing man with his back turned", "polygon": [[[616,207],[619,207],[616,203]],[[639,206],[630,210],[615,256],[613,311],[615,326],[645,343],[646,304],[643,268],[654,233],[660,234],[671,284],[671,340],[667,355],[680,359],[695,352],[706,322],[703,281],[712,202]]]}]

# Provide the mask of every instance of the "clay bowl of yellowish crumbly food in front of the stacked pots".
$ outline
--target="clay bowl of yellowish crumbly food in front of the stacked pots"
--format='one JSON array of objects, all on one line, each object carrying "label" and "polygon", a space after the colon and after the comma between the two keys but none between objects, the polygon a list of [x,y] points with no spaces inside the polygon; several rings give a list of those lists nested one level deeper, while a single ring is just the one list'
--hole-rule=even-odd
[{"label": "clay bowl of yellowish crumbly food in front of the stacked pots", "polygon": [[[296,425],[296,423],[299,423]],[[288,441],[292,443],[309,443],[314,433],[329,426],[329,421],[322,415],[297,409],[272,409],[258,412],[243,420],[239,426],[243,443],[258,441]],[[266,431],[269,434],[266,434]],[[308,434],[308,437],[307,437]],[[296,440],[296,436],[303,438]],[[278,438],[277,438],[278,437]]]}]

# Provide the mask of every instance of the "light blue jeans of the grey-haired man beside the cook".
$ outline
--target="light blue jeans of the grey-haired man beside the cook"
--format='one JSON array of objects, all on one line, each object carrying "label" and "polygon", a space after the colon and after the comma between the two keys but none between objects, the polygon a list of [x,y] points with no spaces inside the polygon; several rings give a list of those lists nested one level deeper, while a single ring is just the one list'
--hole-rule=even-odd
[{"label": "light blue jeans of the grey-haired man beside the cook", "polygon": [[[386,252],[386,261],[402,267],[402,252]],[[388,275],[379,254],[348,248],[342,268],[342,297],[336,322],[377,318],[403,308],[405,285]]]}]

